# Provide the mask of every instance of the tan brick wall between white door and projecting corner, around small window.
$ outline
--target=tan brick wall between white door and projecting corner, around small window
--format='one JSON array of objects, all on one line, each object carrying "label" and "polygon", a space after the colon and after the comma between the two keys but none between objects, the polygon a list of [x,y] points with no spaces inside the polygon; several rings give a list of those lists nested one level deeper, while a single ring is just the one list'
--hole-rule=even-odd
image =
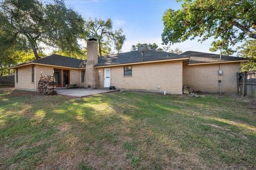
[{"label": "tan brick wall between white door and projecting corner, around small window", "polygon": [[182,94],[182,61],[131,66],[132,77],[124,76],[124,66],[111,67],[110,85],[118,89],[166,90]]}]

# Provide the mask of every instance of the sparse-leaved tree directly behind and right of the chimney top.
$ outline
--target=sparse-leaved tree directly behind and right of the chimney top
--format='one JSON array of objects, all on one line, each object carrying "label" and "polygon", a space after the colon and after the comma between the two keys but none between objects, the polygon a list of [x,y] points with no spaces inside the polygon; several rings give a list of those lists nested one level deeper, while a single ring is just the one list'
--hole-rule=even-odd
[{"label": "sparse-leaved tree directly behind and right of the chimney top", "polygon": [[125,41],[125,35],[123,35],[122,29],[113,30],[113,22],[111,19],[103,21],[95,18],[90,19],[85,23],[85,29],[89,32],[88,38],[95,38],[98,40],[99,56],[108,55],[111,53],[111,47],[117,50],[117,53],[121,52]]}]

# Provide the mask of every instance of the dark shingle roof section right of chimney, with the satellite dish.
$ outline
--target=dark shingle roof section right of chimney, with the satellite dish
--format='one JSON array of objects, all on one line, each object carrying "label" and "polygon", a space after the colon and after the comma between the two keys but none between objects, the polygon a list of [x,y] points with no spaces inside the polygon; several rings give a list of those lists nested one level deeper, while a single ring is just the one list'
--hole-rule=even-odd
[{"label": "dark shingle roof section right of chimney, with the satellite dish", "polygon": [[[167,59],[183,58],[183,57],[185,56],[148,49],[145,53],[143,53],[143,62],[167,60]],[[97,66],[136,63],[141,61],[142,61],[141,53],[139,53],[138,51],[133,51],[133,52],[126,52],[121,54],[114,54],[114,55],[109,55],[105,57],[100,57],[98,60]]]}]

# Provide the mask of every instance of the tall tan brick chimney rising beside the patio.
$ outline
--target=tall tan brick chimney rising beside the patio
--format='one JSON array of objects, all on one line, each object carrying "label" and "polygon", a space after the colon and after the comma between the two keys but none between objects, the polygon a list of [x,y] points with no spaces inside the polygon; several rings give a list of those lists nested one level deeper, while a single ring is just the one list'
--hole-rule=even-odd
[{"label": "tall tan brick chimney rising beside the patio", "polygon": [[85,69],[84,88],[99,88],[99,73],[94,68],[98,64],[98,43],[97,39],[91,38],[87,41],[87,61]]}]

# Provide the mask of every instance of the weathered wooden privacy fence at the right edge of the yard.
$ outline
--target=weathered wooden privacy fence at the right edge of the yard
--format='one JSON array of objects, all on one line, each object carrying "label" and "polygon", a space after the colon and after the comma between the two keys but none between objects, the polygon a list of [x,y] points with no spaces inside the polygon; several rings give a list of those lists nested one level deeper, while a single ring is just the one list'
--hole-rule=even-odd
[{"label": "weathered wooden privacy fence at the right edge of the yard", "polygon": [[237,73],[237,93],[256,97],[256,71]]}]

